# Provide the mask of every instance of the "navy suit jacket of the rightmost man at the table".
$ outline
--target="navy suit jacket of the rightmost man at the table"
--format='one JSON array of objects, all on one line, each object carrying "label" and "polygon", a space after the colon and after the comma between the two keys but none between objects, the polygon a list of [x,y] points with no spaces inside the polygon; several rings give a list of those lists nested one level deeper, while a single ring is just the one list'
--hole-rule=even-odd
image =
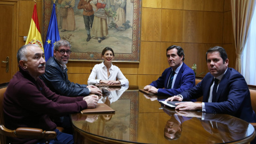
[{"label": "navy suit jacket of the rightmost man at the table", "polygon": [[203,95],[206,113],[224,113],[246,122],[256,122],[251,106],[250,91],[240,73],[233,68],[228,68],[219,83],[216,101],[207,102],[212,84],[213,76],[207,73],[195,87],[181,93],[183,101],[197,99]]}]

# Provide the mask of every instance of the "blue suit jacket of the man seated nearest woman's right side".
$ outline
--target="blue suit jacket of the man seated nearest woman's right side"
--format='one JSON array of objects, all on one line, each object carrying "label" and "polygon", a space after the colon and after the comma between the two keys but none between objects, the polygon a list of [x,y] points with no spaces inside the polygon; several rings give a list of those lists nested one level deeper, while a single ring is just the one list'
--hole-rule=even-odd
[{"label": "blue suit jacket of the man seated nearest woman's right side", "polygon": [[168,95],[169,97],[171,97],[195,86],[195,73],[183,62],[179,73],[175,79],[173,89],[163,89],[168,85],[168,80],[171,72],[171,67],[166,68],[162,76],[150,84],[158,89],[157,95]]}]

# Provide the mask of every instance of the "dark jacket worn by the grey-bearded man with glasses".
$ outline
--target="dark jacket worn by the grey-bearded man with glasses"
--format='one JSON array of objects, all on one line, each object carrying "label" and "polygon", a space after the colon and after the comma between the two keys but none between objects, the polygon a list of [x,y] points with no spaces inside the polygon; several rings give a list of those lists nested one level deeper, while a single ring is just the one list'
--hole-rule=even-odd
[{"label": "dark jacket worn by the grey-bearded man with glasses", "polygon": [[57,94],[67,97],[77,97],[89,95],[87,85],[71,83],[68,80],[67,69],[63,71],[60,64],[54,57],[47,60],[45,65],[45,73],[40,76],[45,85]]}]

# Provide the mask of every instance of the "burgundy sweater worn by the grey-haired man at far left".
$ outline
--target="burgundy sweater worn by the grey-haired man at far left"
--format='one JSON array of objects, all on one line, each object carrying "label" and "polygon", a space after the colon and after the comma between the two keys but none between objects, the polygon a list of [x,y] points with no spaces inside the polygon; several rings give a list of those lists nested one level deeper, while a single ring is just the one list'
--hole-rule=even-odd
[{"label": "burgundy sweater worn by the grey-haired man at far left", "polygon": [[[87,108],[83,97],[65,97],[55,94],[45,86],[44,82],[37,81],[28,71],[19,67],[11,79],[4,93],[4,119],[7,129],[15,130],[18,127],[33,127],[52,131],[55,123],[49,118],[79,113]],[[12,143],[34,143],[38,140],[9,138]]]}]

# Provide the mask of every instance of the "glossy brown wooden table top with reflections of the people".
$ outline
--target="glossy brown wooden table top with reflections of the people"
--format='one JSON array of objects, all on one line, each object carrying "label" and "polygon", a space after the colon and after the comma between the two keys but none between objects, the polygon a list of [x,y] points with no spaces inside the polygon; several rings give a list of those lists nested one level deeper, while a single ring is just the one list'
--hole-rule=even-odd
[{"label": "glossy brown wooden table top with reflections of the people", "polygon": [[[226,114],[175,111],[130,86],[109,88],[104,102],[115,114],[72,114],[76,143],[248,143],[254,127]],[[163,99],[164,97],[158,97]]]}]

